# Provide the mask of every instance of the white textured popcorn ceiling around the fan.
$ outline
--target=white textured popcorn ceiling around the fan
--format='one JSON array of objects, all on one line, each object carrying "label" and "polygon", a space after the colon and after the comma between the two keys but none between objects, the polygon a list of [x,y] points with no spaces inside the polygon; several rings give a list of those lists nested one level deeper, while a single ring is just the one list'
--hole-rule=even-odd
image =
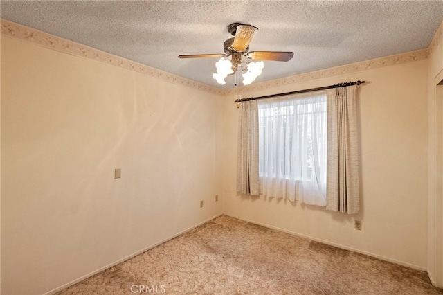
[{"label": "white textured popcorn ceiling around the fan", "polygon": [[[1,18],[204,84],[233,22],[259,28],[250,51],[293,51],[264,61],[255,82],[426,48],[443,1],[5,1]],[[247,60],[247,59],[246,59]],[[239,82],[242,77],[238,75]],[[239,83],[241,84],[241,83]]]}]

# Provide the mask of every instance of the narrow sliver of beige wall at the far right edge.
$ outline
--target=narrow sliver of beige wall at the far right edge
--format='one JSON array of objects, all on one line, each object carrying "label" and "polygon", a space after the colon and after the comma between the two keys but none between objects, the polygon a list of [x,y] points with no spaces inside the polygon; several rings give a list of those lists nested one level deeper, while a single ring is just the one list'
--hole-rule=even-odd
[{"label": "narrow sliver of beige wall at the far right edge", "polygon": [[[443,287],[443,23],[428,57],[428,274]],[[437,31],[437,32],[439,32]]]}]

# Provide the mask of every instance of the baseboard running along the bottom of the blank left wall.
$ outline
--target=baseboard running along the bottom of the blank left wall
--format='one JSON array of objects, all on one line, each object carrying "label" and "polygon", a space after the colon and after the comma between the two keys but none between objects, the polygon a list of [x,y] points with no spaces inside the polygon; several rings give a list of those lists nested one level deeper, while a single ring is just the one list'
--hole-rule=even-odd
[{"label": "baseboard running along the bottom of the blank left wall", "polygon": [[152,244],[152,245],[150,245],[149,247],[146,247],[146,248],[144,248],[144,249],[138,250],[138,251],[136,251],[136,252],[130,254],[129,256],[126,256],[126,257],[124,257],[124,258],[121,258],[121,259],[119,259],[119,260],[116,260],[115,262],[112,262],[112,263],[110,263],[109,265],[106,265],[105,267],[100,267],[100,269],[96,269],[95,271],[91,271],[89,274],[86,274],[86,275],[84,275],[84,276],[81,276],[80,278],[76,278],[75,280],[72,280],[72,281],[69,282],[69,283],[66,283],[66,284],[64,284],[64,285],[62,285],[62,286],[60,286],[60,287],[57,287],[57,288],[55,288],[55,289],[49,291],[49,292],[46,292],[46,293],[44,293],[43,295],[52,295],[52,294],[55,294],[55,293],[57,293],[57,292],[60,292],[60,291],[62,291],[62,289],[66,289],[67,287],[71,287],[72,285],[75,285],[76,283],[79,283],[79,282],[81,282],[81,281],[84,280],[84,279],[87,279],[87,278],[89,278],[89,277],[91,277],[91,276],[93,276],[93,275],[95,275],[95,274],[98,274],[100,271],[104,271],[104,270],[106,270],[106,269],[109,269],[110,267],[114,267],[114,265],[118,265],[118,264],[121,263],[121,262],[125,262],[126,260],[129,260],[129,259],[131,259],[131,258],[137,256],[138,254],[141,254],[141,253],[143,253],[143,252],[145,252],[145,251],[147,251],[147,250],[149,250],[149,249],[152,249],[152,248],[154,248],[154,247],[159,246],[159,244],[163,244],[164,242],[168,242],[169,240],[172,240],[173,238],[177,238],[179,235],[182,235],[183,233],[186,233],[186,232],[188,232],[188,231],[190,231],[190,230],[192,230],[192,229],[195,229],[197,226],[201,226],[201,224],[205,224],[206,222],[209,222],[210,220],[213,220],[213,219],[215,219],[215,218],[217,218],[217,217],[219,217],[219,216],[221,216],[221,215],[223,215],[223,213],[219,213],[219,214],[217,214],[217,215],[215,215],[215,216],[213,216],[213,217],[208,218],[207,220],[204,220],[204,221],[202,221],[202,222],[199,222],[198,224],[195,224],[194,226],[191,226],[191,227],[188,228],[188,229],[185,229],[185,230],[183,230],[183,231],[180,231],[179,233],[176,233],[176,234],[174,234],[174,235],[171,235],[170,237],[165,238],[164,240],[161,240],[160,242],[156,242],[155,244]]}]

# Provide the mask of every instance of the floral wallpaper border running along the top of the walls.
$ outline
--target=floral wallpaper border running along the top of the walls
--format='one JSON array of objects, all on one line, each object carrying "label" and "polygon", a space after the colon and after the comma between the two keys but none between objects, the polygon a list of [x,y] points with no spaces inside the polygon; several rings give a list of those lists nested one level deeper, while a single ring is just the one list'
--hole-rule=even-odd
[{"label": "floral wallpaper border running along the top of the walls", "polygon": [[118,66],[129,71],[135,71],[137,73],[143,73],[150,75],[154,78],[165,80],[174,84],[191,87],[201,91],[207,91],[223,96],[228,96],[233,93],[244,93],[249,91],[257,91],[263,89],[270,89],[273,87],[279,87],[286,84],[293,84],[298,82],[306,82],[310,80],[318,80],[321,78],[329,78],[336,75],[344,75],[347,73],[356,73],[360,71],[367,71],[369,69],[377,69],[383,66],[392,66],[395,64],[404,64],[406,62],[415,62],[418,60],[426,60],[428,55],[435,49],[435,47],[441,42],[443,35],[443,22],[437,29],[435,36],[428,48],[420,49],[417,51],[410,51],[407,53],[400,53],[397,55],[390,55],[387,57],[379,57],[373,60],[366,60],[363,62],[356,62],[354,64],[345,64],[343,66],[336,66],[329,69],[322,69],[320,71],[313,71],[309,73],[302,73],[299,75],[291,75],[286,78],[280,78],[276,80],[270,80],[265,82],[259,82],[248,86],[238,87],[235,89],[219,89],[207,84],[196,82],[187,78],[183,78],[179,75],[174,75],[159,69],[127,60],[117,55],[112,55],[104,51],[100,51],[96,48],[72,42],[62,37],[57,37],[48,33],[44,33],[40,30],[30,28],[16,24],[6,19],[1,19],[1,35],[21,39],[24,41],[32,42],[40,46],[51,48],[55,51],[75,55],[78,57],[84,57],[98,62],[104,62],[105,64],[111,64]]}]

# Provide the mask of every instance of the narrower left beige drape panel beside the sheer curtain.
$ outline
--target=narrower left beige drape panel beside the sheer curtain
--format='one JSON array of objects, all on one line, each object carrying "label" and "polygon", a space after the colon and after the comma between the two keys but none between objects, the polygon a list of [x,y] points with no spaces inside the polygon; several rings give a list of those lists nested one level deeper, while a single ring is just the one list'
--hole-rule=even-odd
[{"label": "narrower left beige drape panel beside the sheer curtain", "polygon": [[237,192],[259,195],[257,101],[242,102],[238,120]]}]

